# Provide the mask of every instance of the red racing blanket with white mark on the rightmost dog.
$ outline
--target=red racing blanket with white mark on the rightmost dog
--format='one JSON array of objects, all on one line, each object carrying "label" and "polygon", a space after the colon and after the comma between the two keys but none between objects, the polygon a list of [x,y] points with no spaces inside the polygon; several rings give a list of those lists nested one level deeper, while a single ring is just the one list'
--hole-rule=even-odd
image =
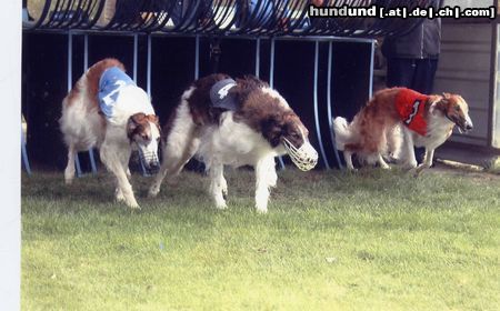
[{"label": "red racing blanket with white mark on the rightmost dog", "polygon": [[423,112],[428,100],[428,96],[410,89],[402,89],[396,96],[396,110],[399,118],[404,126],[421,136],[427,134],[427,121]]}]

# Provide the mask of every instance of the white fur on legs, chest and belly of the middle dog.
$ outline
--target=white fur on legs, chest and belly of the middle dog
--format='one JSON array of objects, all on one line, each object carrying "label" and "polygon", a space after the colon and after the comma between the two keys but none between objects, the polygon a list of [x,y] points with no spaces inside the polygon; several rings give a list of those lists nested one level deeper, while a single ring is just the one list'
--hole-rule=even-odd
[{"label": "white fur on legs, chest and belly of the middle dog", "polygon": [[163,178],[178,174],[196,154],[206,163],[210,177],[209,192],[219,209],[227,208],[224,195],[228,193],[228,185],[223,177],[223,165],[254,167],[256,208],[258,212],[266,213],[269,188],[276,187],[278,179],[274,157],[284,154],[284,148],[281,144],[271,148],[262,134],[243,122],[234,122],[231,111],[221,116],[219,126],[209,126],[200,133],[194,132],[187,102],[193,90],[191,88],[183,93],[177,108],[177,116],[163,149],[166,158],[149,194],[157,195]]}]

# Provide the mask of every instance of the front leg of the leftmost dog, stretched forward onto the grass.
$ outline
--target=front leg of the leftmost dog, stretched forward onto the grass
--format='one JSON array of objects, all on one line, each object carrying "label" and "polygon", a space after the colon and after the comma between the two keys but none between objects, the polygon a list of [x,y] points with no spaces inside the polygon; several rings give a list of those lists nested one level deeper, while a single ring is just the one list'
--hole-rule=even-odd
[{"label": "front leg of the leftmost dog, stretched forward onto the grass", "polygon": [[127,205],[132,209],[139,209],[139,204],[137,203],[136,197],[133,195],[132,185],[127,178],[127,171],[120,161],[120,156],[117,153],[116,148],[116,146],[110,147],[104,142],[100,150],[101,161],[104,163],[107,169],[111,171],[117,178],[117,199],[123,198],[123,201]]}]

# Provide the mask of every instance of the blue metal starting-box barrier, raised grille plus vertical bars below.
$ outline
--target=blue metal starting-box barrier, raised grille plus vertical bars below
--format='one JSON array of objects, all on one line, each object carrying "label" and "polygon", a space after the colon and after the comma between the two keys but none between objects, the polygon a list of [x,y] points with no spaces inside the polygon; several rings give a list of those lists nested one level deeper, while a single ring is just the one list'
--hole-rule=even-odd
[{"label": "blue metal starting-box barrier, raised grille plus vertical bars below", "polygon": [[[428,7],[433,0],[324,0],[323,7],[361,8],[384,6],[408,8]],[[364,87],[368,98],[372,93],[374,41],[370,38],[402,34],[416,27],[421,19],[376,19],[376,18],[317,18],[308,17],[310,0],[46,0],[36,20],[24,22],[24,31],[53,32],[68,37],[68,89],[73,83],[72,59],[73,36],[83,36],[83,70],[88,68],[88,37],[92,34],[126,34],[133,37],[132,74],[138,72],[138,34],[147,37],[146,89],[151,96],[151,50],[152,37],[177,37],[194,39],[193,78],[200,76],[200,39],[211,38],[217,49],[217,38],[244,38],[256,42],[254,74],[268,72],[261,66],[261,42],[269,42],[270,86],[274,84],[274,46],[279,41],[309,41],[314,44],[313,71],[311,80],[312,113],[311,126],[319,147],[321,163],[326,169],[342,168],[332,132],[332,117],[337,114],[332,103],[332,44],[353,42],[368,46],[370,60],[366,64],[369,81]],[[283,37],[283,38],[280,38]],[[266,40],[264,40],[266,39]],[[328,43],[327,74],[320,74],[320,44]],[[210,49],[212,54],[213,49]],[[207,52],[207,51],[206,51]],[[220,50],[219,50],[220,54]],[[217,60],[218,57],[217,56]],[[324,56],[324,49],[322,54]],[[214,67],[217,68],[217,66]],[[323,86],[323,87],[321,87]],[[327,86],[324,88],[324,86]],[[364,84],[363,84],[364,86]],[[324,103],[324,104],[322,104]],[[336,108],[337,109],[337,108]],[[332,152],[329,152],[329,151]],[[329,156],[333,154],[333,156]],[[93,151],[89,151],[91,171],[97,171]],[[284,168],[283,160],[278,159]],[[81,174],[77,160],[77,172]]]}]

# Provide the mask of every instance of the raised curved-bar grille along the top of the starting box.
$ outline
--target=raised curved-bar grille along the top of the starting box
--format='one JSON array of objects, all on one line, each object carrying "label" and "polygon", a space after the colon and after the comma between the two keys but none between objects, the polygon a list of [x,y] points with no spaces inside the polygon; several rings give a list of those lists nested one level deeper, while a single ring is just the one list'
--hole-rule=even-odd
[{"label": "raised curved-bar grille along the top of the starting box", "polygon": [[[321,7],[429,7],[433,0],[324,0]],[[310,0],[46,0],[26,30],[162,32],[210,36],[374,38],[412,29],[420,19],[308,17]],[[324,9],[324,8],[323,8]]]}]

